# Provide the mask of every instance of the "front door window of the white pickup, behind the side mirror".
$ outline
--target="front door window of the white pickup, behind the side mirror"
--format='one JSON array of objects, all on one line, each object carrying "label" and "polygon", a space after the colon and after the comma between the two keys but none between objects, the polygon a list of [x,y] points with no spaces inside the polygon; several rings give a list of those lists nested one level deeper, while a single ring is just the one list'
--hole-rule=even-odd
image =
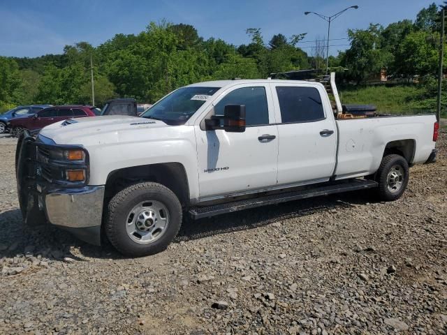
[{"label": "front door window of the white pickup, behind the side mirror", "polygon": [[264,87],[242,87],[231,91],[214,106],[215,115],[223,115],[226,105],[245,105],[247,126],[269,124],[267,96]]}]

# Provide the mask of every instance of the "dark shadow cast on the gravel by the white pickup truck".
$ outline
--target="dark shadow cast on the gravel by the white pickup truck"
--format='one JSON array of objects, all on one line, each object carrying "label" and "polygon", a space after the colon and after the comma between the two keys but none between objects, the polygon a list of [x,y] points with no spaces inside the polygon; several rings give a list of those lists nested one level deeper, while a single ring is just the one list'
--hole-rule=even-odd
[{"label": "dark shadow cast on the gravel by the white pickup truck", "polygon": [[[360,191],[247,209],[198,221],[185,218],[174,243],[254,229],[288,218],[300,218],[319,211],[353,207],[372,201],[374,200],[367,191]],[[0,264],[2,261],[11,261],[17,256],[19,258],[39,256],[44,261],[50,262],[64,261],[67,257],[74,261],[82,261],[83,257],[126,258],[117,253],[107,242],[101,247],[91,246],[52,225],[28,227],[22,223],[22,214],[17,208],[0,213],[0,230],[2,232],[0,234]],[[5,258],[8,260],[4,260]]]}]

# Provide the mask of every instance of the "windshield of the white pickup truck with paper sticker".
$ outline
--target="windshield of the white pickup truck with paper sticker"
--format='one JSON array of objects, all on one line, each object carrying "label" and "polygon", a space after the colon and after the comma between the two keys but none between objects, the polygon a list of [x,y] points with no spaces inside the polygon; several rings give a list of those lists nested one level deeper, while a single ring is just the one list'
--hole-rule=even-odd
[{"label": "windshield of the white pickup truck with paper sticker", "polygon": [[141,117],[177,126],[184,124],[220,87],[182,87],[150,107]]}]

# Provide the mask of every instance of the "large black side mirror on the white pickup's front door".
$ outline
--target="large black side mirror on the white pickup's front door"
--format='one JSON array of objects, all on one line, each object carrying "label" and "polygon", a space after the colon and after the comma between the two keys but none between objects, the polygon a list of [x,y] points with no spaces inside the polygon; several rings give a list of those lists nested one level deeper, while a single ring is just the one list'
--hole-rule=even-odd
[{"label": "large black side mirror on the white pickup's front door", "polygon": [[[223,125],[221,125],[223,120]],[[230,133],[244,133],[245,131],[245,105],[226,105],[223,116],[213,115],[205,119],[205,129],[214,131],[223,129]]]}]

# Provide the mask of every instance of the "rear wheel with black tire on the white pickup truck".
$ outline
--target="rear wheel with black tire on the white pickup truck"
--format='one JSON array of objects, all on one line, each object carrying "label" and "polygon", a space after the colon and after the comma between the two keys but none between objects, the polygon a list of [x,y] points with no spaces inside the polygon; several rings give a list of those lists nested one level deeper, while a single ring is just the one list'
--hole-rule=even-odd
[{"label": "rear wheel with black tire on the white pickup truck", "polygon": [[[390,180],[388,174],[393,172],[397,177],[391,176]],[[393,181],[396,180],[397,183],[394,183]],[[393,201],[399,199],[404,194],[409,181],[409,167],[406,159],[396,154],[384,156],[379,170],[376,172],[376,181],[379,183],[377,195],[380,200]],[[400,186],[397,186],[399,183]]]}]

